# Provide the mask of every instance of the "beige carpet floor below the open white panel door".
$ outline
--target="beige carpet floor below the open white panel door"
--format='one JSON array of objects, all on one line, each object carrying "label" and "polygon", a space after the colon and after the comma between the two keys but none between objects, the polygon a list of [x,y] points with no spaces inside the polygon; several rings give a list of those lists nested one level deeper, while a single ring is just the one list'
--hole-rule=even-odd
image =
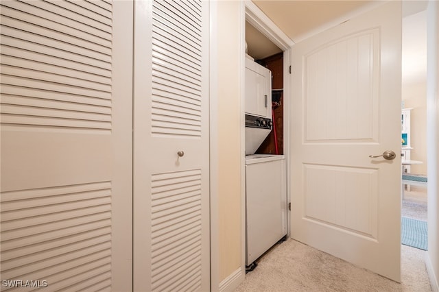
[{"label": "beige carpet floor below the open white panel door", "polygon": [[424,256],[423,250],[402,245],[400,284],[289,239],[265,254],[235,292],[429,292]]}]

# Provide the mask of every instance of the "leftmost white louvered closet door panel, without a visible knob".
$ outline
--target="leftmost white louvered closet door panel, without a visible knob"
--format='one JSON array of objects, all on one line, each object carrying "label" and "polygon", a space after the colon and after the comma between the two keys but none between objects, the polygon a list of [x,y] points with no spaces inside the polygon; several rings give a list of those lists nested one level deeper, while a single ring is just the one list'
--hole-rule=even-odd
[{"label": "leftmost white louvered closet door panel, without a visible knob", "polygon": [[1,1],[4,291],[132,288],[132,10]]}]

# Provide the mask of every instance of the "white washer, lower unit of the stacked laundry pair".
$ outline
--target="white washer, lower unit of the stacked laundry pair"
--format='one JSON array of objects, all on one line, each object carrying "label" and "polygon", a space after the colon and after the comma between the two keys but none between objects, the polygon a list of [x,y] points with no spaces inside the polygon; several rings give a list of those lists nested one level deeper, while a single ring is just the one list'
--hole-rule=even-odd
[{"label": "white washer, lower unit of the stacked laundry pair", "polygon": [[287,235],[285,156],[246,156],[246,265]]}]

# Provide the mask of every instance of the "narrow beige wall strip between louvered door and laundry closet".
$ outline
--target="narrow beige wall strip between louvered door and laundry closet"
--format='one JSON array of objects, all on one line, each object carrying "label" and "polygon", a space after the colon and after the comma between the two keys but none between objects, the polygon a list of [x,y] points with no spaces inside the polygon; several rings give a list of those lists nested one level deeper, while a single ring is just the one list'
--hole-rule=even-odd
[{"label": "narrow beige wall strip between louvered door and laundry closet", "polygon": [[219,281],[241,267],[240,1],[217,2]]}]

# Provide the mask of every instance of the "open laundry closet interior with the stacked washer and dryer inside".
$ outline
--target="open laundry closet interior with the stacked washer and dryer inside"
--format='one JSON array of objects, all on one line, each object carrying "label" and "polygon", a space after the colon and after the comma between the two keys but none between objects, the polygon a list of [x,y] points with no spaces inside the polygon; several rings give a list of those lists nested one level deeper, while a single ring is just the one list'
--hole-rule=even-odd
[{"label": "open laundry closet interior with the stacked washer and dryer inside", "polygon": [[246,21],[246,271],[287,238],[283,50]]}]

